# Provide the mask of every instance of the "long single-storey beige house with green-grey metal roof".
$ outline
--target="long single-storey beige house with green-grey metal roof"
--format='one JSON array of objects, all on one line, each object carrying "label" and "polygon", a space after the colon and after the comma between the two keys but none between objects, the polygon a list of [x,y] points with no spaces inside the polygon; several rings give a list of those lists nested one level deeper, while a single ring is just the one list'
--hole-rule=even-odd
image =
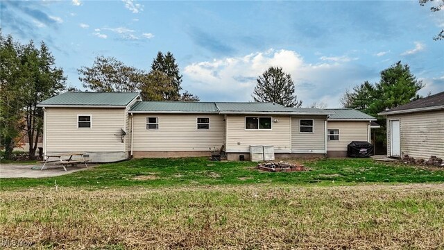
[{"label": "long single-storey beige house with green-grey metal roof", "polygon": [[46,154],[83,151],[96,162],[209,156],[222,145],[228,160],[248,160],[251,145],[273,145],[276,158],[345,156],[348,143],[370,141],[374,120],[356,110],[142,101],[137,93],[67,92],[39,106]]}]

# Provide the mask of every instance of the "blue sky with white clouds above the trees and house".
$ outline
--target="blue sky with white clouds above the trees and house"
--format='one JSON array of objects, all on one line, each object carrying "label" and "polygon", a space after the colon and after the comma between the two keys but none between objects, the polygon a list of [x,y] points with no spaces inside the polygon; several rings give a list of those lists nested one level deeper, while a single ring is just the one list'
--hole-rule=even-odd
[{"label": "blue sky with white clouds above the trees and house", "polygon": [[3,35],[45,42],[68,85],[77,69],[112,56],[148,70],[171,51],[182,88],[200,101],[253,101],[268,67],[291,74],[302,106],[341,96],[401,61],[444,91],[444,10],[418,1],[0,1]]}]

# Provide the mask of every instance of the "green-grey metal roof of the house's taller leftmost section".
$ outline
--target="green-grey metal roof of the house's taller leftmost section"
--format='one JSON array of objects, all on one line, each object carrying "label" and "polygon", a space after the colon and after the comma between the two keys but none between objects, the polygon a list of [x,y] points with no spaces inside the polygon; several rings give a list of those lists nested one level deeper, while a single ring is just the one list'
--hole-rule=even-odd
[{"label": "green-grey metal roof of the house's taller leftmost section", "polygon": [[126,106],[138,93],[65,92],[39,103],[50,106]]}]

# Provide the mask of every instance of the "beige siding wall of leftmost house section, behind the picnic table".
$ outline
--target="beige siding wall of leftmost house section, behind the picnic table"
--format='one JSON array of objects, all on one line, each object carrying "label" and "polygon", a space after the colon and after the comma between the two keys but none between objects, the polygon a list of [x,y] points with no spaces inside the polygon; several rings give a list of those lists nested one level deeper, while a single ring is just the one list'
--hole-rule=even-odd
[{"label": "beige siding wall of leftmost house section, behind the picnic table", "polygon": [[[124,151],[114,134],[124,128],[123,108],[46,108],[46,151]],[[77,128],[78,115],[91,115],[91,128]]]}]

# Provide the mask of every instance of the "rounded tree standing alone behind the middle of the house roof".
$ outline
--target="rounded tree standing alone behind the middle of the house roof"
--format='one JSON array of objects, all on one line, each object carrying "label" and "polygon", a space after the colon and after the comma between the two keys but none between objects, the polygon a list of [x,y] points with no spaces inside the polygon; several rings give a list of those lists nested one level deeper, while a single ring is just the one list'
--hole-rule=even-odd
[{"label": "rounded tree standing alone behind the middle of the house roof", "polygon": [[269,101],[286,107],[300,107],[290,74],[282,71],[282,67],[269,67],[262,76],[257,78],[253,92],[255,101]]}]

